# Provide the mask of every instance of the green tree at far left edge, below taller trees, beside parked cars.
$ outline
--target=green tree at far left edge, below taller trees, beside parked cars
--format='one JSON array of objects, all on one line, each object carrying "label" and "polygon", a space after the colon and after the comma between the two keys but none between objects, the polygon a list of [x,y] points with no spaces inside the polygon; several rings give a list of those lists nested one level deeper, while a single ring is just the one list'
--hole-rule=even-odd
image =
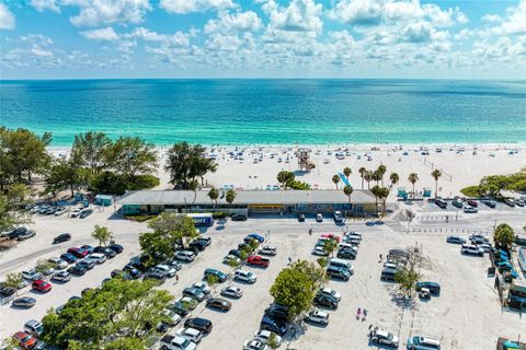
[{"label": "green tree at far left edge, below taller trees, beside parked cars", "polygon": [[28,212],[24,209],[32,203],[30,189],[22,184],[14,184],[7,192],[0,192],[0,231],[31,222]]}]

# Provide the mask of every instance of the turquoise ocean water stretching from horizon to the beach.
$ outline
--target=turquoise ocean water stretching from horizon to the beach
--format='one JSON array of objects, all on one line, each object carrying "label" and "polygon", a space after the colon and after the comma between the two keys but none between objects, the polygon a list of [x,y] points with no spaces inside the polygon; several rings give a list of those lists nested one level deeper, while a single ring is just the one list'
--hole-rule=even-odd
[{"label": "turquoise ocean water stretching from horizon to the beach", "polygon": [[526,141],[526,81],[1,81],[0,125],[201,143]]}]

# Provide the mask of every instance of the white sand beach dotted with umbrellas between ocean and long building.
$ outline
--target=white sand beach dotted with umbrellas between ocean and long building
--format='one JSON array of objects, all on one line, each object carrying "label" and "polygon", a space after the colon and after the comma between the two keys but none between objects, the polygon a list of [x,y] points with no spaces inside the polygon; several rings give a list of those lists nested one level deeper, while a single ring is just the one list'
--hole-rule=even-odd
[{"label": "white sand beach dotted with umbrellas between ocean and long building", "polygon": [[[459,190],[466,186],[477,185],[487,175],[512,174],[526,166],[526,145],[523,144],[482,144],[482,145],[301,145],[311,150],[311,161],[316,168],[309,173],[298,170],[295,151],[296,145],[218,145],[208,147],[207,154],[215,155],[218,163],[216,173],[205,176],[205,185],[220,188],[233,185],[235,188],[265,189],[277,185],[276,175],[281,171],[296,173],[296,178],[306,182],[313,189],[334,189],[332,176],[351,167],[350,183],[355,189],[362,188],[358,170],[376,170],[380,164],[387,167],[384,185],[389,186],[389,175],[396,172],[400,183],[395,185],[390,199],[397,195],[398,187],[412,190],[408,180],[410,173],[419,175],[415,190],[431,188],[435,191],[435,180],[431,176],[434,168],[439,168],[443,176],[438,179],[438,195],[453,197],[461,195]],[[437,152],[441,149],[442,152]],[[163,170],[168,148],[159,148],[161,156],[157,176],[161,184],[156,189],[171,189],[170,176]],[[336,159],[336,152],[342,152],[343,160]],[[428,154],[422,153],[427,151]],[[56,155],[67,154],[67,149],[52,149]],[[242,152],[243,160],[235,160],[230,152]],[[274,154],[274,155],[273,155]],[[278,160],[282,160],[278,162]],[[287,163],[288,159],[288,163]],[[258,163],[254,163],[258,160]],[[260,161],[261,160],[261,161]],[[339,184],[341,188],[343,183]],[[370,183],[373,187],[375,182]],[[380,184],[381,185],[381,184]],[[364,183],[367,188],[367,183]]]}]

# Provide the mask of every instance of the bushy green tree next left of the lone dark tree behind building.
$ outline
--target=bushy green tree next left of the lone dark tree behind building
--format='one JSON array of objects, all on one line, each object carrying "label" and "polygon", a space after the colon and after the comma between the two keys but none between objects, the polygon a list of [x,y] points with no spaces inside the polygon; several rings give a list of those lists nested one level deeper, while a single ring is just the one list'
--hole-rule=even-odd
[{"label": "bushy green tree next left of the lone dark tree behind building", "polygon": [[139,137],[121,137],[106,150],[106,162],[117,174],[132,179],[152,174],[159,166],[156,147]]}]

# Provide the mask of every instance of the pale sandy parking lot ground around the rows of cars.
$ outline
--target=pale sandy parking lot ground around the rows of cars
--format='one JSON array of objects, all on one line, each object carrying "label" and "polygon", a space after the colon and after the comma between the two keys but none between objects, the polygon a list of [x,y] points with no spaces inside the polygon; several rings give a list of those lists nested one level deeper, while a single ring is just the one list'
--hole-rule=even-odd
[{"label": "pale sandy parking lot ground around the rows of cars", "polygon": [[[47,294],[26,295],[37,299],[37,304],[30,310],[15,310],[9,304],[0,306],[0,335],[3,337],[21,330],[26,320],[39,319],[46,311],[61,305],[72,295],[80,295],[84,288],[100,285],[104,278],[110,277],[114,269],[122,268],[129,258],[139,253],[138,235],[146,224],[124,220],[107,220],[110,212],[95,212],[87,219],[69,219],[66,217],[36,217],[31,225],[37,234],[31,241],[22,242],[15,248],[0,255],[1,279],[7,272],[21,271],[33,267],[39,258],[58,256],[70,246],[82,244],[95,245],[90,233],[94,224],[110,228],[115,234],[115,241],[125,247],[123,254],[110,259],[83,277],[73,277],[65,284],[54,283]],[[484,225],[490,220],[484,219]],[[473,222],[470,222],[474,225]],[[312,228],[313,234],[308,230]],[[422,335],[437,338],[443,349],[494,349],[499,336],[515,339],[517,335],[525,336],[526,318],[516,313],[502,311],[493,279],[487,277],[489,259],[460,255],[458,245],[446,243],[446,233],[405,233],[393,230],[396,225],[366,226],[362,222],[347,223],[347,230],[363,234],[363,242],[354,265],[354,276],[348,282],[331,280],[328,285],[342,294],[342,301],[336,311],[330,311],[330,324],[327,327],[307,325],[305,334],[296,339],[285,336],[287,340],[282,348],[291,349],[368,349],[367,332],[369,325],[380,326],[400,338],[400,348],[404,348],[409,336]],[[52,245],[53,237],[58,233],[69,232],[72,241],[58,246]],[[206,230],[206,235],[213,237],[209,248],[201,253],[194,262],[183,264],[178,272],[179,282],[174,278],[161,285],[175,298],[181,295],[185,287],[203,278],[206,268],[217,268],[224,272],[231,268],[222,264],[222,257],[228,250],[236,248],[238,243],[249,233],[268,235],[270,243],[278,253],[271,257],[266,269],[247,267],[258,276],[254,284],[233,282],[243,290],[240,300],[232,301],[228,313],[204,307],[201,303],[192,316],[199,315],[214,324],[214,330],[199,343],[199,349],[241,349],[245,340],[250,340],[259,330],[264,310],[272,302],[268,290],[282,268],[289,258],[291,260],[316,260],[311,249],[321,233],[342,233],[342,226],[325,219],[316,223],[308,218],[299,223],[294,218],[249,219],[247,222],[227,222],[222,226]],[[403,308],[392,301],[396,284],[380,281],[382,264],[379,255],[386,255],[390,248],[419,246],[424,256],[422,275],[424,280],[435,281],[442,285],[438,298],[427,302],[418,301],[415,307]],[[232,283],[218,284],[216,292]],[[26,288],[25,290],[27,290]],[[357,320],[357,308],[368,311],[366,320]],[[182,327],[182,324],[170,330]]]}]

